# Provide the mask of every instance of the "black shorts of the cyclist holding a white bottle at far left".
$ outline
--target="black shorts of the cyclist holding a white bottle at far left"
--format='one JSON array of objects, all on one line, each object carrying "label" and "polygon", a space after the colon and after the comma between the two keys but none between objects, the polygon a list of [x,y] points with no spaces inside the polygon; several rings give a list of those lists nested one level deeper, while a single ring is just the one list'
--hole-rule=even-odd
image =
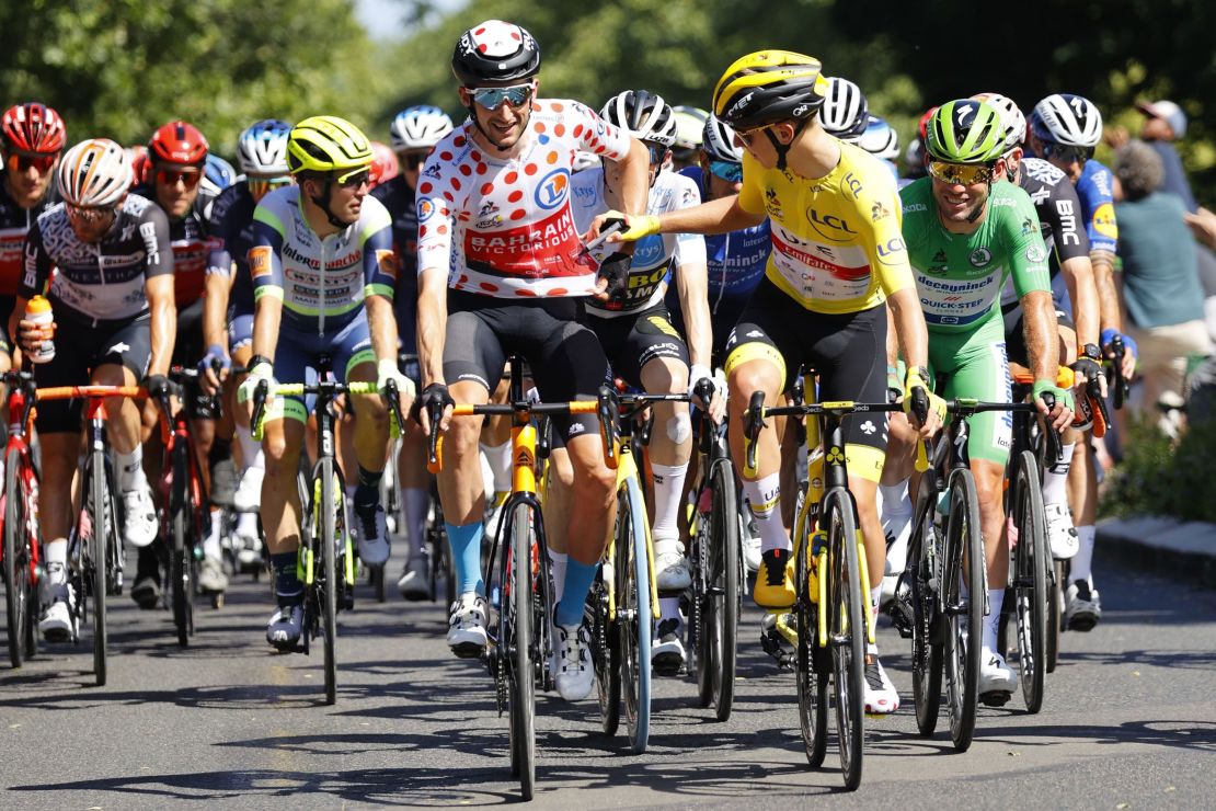
[{"label": "black shorts of the cyclist holding a white bottle at far left", "polygon": [[[56,312],[55,357],[34,365],[38,388],[85,385],[98,366],[117,364],[131,370],[136,381],[147,374],[152,357],[151,320],[98,321],[81,323]],[[38,405],[34,424],[39,433],[62,434],[80,430],[83,400],[49,400]]]}]

